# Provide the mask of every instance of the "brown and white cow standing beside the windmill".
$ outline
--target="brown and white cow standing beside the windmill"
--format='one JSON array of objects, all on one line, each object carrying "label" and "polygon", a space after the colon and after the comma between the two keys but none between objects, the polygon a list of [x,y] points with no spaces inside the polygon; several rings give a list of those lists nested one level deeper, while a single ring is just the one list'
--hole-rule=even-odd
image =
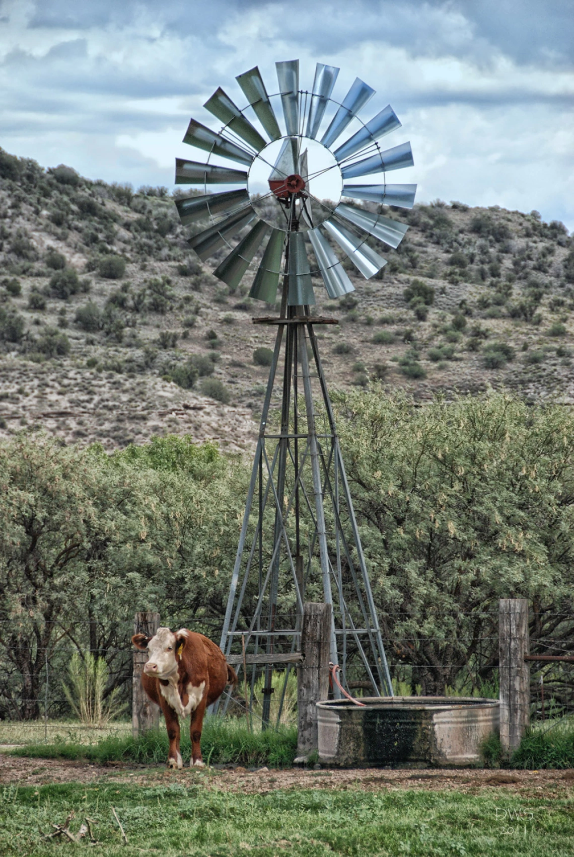
[{"label": "brown and white cow standing beside the windmill", "polygon": [[158,628],[154,637],[136,634],[131,641],[136,648],[149,652],[142,685],[166,718],[168,766],[184,767],[179,752],[179,717],[191,715],[190,766],[203,767],[200,741],[205,709],[221,697],[229,682],[237,682],[237,675],[218,645],[187,628],[176,632]]}]

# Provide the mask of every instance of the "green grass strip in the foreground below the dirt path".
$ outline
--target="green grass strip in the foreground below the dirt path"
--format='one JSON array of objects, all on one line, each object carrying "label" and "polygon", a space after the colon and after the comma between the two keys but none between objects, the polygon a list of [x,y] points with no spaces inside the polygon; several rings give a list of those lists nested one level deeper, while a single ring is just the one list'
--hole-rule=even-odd
[{"label": "green grass strip in the foreground below the dirt path", "polygon": [[[177,775],[174,776],[174,781]],[[219,791],[217,776],[154,786],[97,783],[9,787],[0,793],[0,854],[60,854],[88,842],[45,841],[75,812],[93,819],[94,857],[297,857],[403,855],[562,857],[571,854],[571,801],[500,792]],[[266,785],[267,783],[265,783]],[[128,839],[122,842],[115,809]],[[508,812],[513,813],[511,821]],[[517,814],[517,816],[514,815]],[[517,819],[517,820],[515,820]],[[67,851],[66,851],[67,853]]]}]

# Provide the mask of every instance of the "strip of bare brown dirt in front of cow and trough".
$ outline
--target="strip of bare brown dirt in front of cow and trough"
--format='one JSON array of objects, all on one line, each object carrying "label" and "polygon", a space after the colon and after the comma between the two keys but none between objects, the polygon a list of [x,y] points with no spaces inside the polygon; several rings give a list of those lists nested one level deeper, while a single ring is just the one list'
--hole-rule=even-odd
[{"label": "strip of bare brown dirt in front of cow and trough", "polygon": [[246,770],[242,767],[184,768],[166,770],[163,765],[68,762],[40,758],[16,758],[0,753],[0,784],[41,786],[53,782],[203,782],[206,788],[245,794],[265,793],[276,788],[360,789],[361,791],[402,788],[456,788],[475,794],[484,788],[504,788],[522,796],[565,797],[574,790],[574,770]]}]

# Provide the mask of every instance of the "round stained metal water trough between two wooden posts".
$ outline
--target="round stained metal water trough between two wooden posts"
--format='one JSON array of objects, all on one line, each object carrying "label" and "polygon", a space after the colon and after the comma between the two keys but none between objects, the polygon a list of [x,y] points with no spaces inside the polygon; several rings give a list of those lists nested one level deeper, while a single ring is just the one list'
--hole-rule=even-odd
[{"label": "round stained metal water trough between two wooden posts", "polygon": [[498,699],[367,697],[317,703],[319,762],[340,767],[468,767],[499,731]]}]

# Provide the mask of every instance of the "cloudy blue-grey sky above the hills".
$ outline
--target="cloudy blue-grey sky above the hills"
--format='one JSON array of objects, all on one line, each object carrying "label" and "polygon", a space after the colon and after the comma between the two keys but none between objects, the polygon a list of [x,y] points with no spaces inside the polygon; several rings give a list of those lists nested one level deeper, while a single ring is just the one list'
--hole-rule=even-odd
[{"label": "cloudy blue-grey sky above the hills", "polygon": [[[500,205],[574,230],[572,0],[0,0],[0,146],[106,181],[172,188],[190,116],[275,60],[341,67],[390,102],[417,199]],[[200,157],[197,157],[200,155]],[[400,176],[400,177],[399,177]]]}]

